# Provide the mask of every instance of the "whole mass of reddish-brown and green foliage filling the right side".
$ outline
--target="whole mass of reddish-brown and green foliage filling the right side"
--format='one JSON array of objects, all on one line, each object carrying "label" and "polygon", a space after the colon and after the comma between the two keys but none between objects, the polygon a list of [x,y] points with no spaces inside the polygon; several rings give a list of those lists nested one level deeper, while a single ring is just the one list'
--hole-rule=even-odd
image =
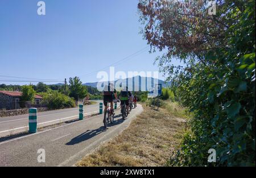
[{"label": "whole mass of reddish-brown and green foliage filling the right side", "polygon": [[[214,15],[206,3],[138,4],[144,39],[152,51],[167,49],[156,63],[192,113],[168,165],[255,166],[255,0],[217,1]],[[208,162],[209,149],[216,163]]]}]

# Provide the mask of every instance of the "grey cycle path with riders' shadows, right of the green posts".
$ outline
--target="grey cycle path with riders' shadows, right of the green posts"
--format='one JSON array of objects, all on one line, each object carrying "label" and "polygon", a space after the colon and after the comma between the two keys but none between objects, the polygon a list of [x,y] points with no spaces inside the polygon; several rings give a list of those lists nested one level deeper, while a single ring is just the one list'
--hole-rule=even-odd
[{"label": "grey cycle path with riders' shadows, right of the green posts", "polygon": [[[83,156],[125,129],[143,111],[138,104],[126,120],[115,110],[114,123],[104,128],[103,115],[0,142],[0,166],[73,166]],[[46,162],[38,162],[44,149]],[[40,156],[39,156],[40,157]]]}]

